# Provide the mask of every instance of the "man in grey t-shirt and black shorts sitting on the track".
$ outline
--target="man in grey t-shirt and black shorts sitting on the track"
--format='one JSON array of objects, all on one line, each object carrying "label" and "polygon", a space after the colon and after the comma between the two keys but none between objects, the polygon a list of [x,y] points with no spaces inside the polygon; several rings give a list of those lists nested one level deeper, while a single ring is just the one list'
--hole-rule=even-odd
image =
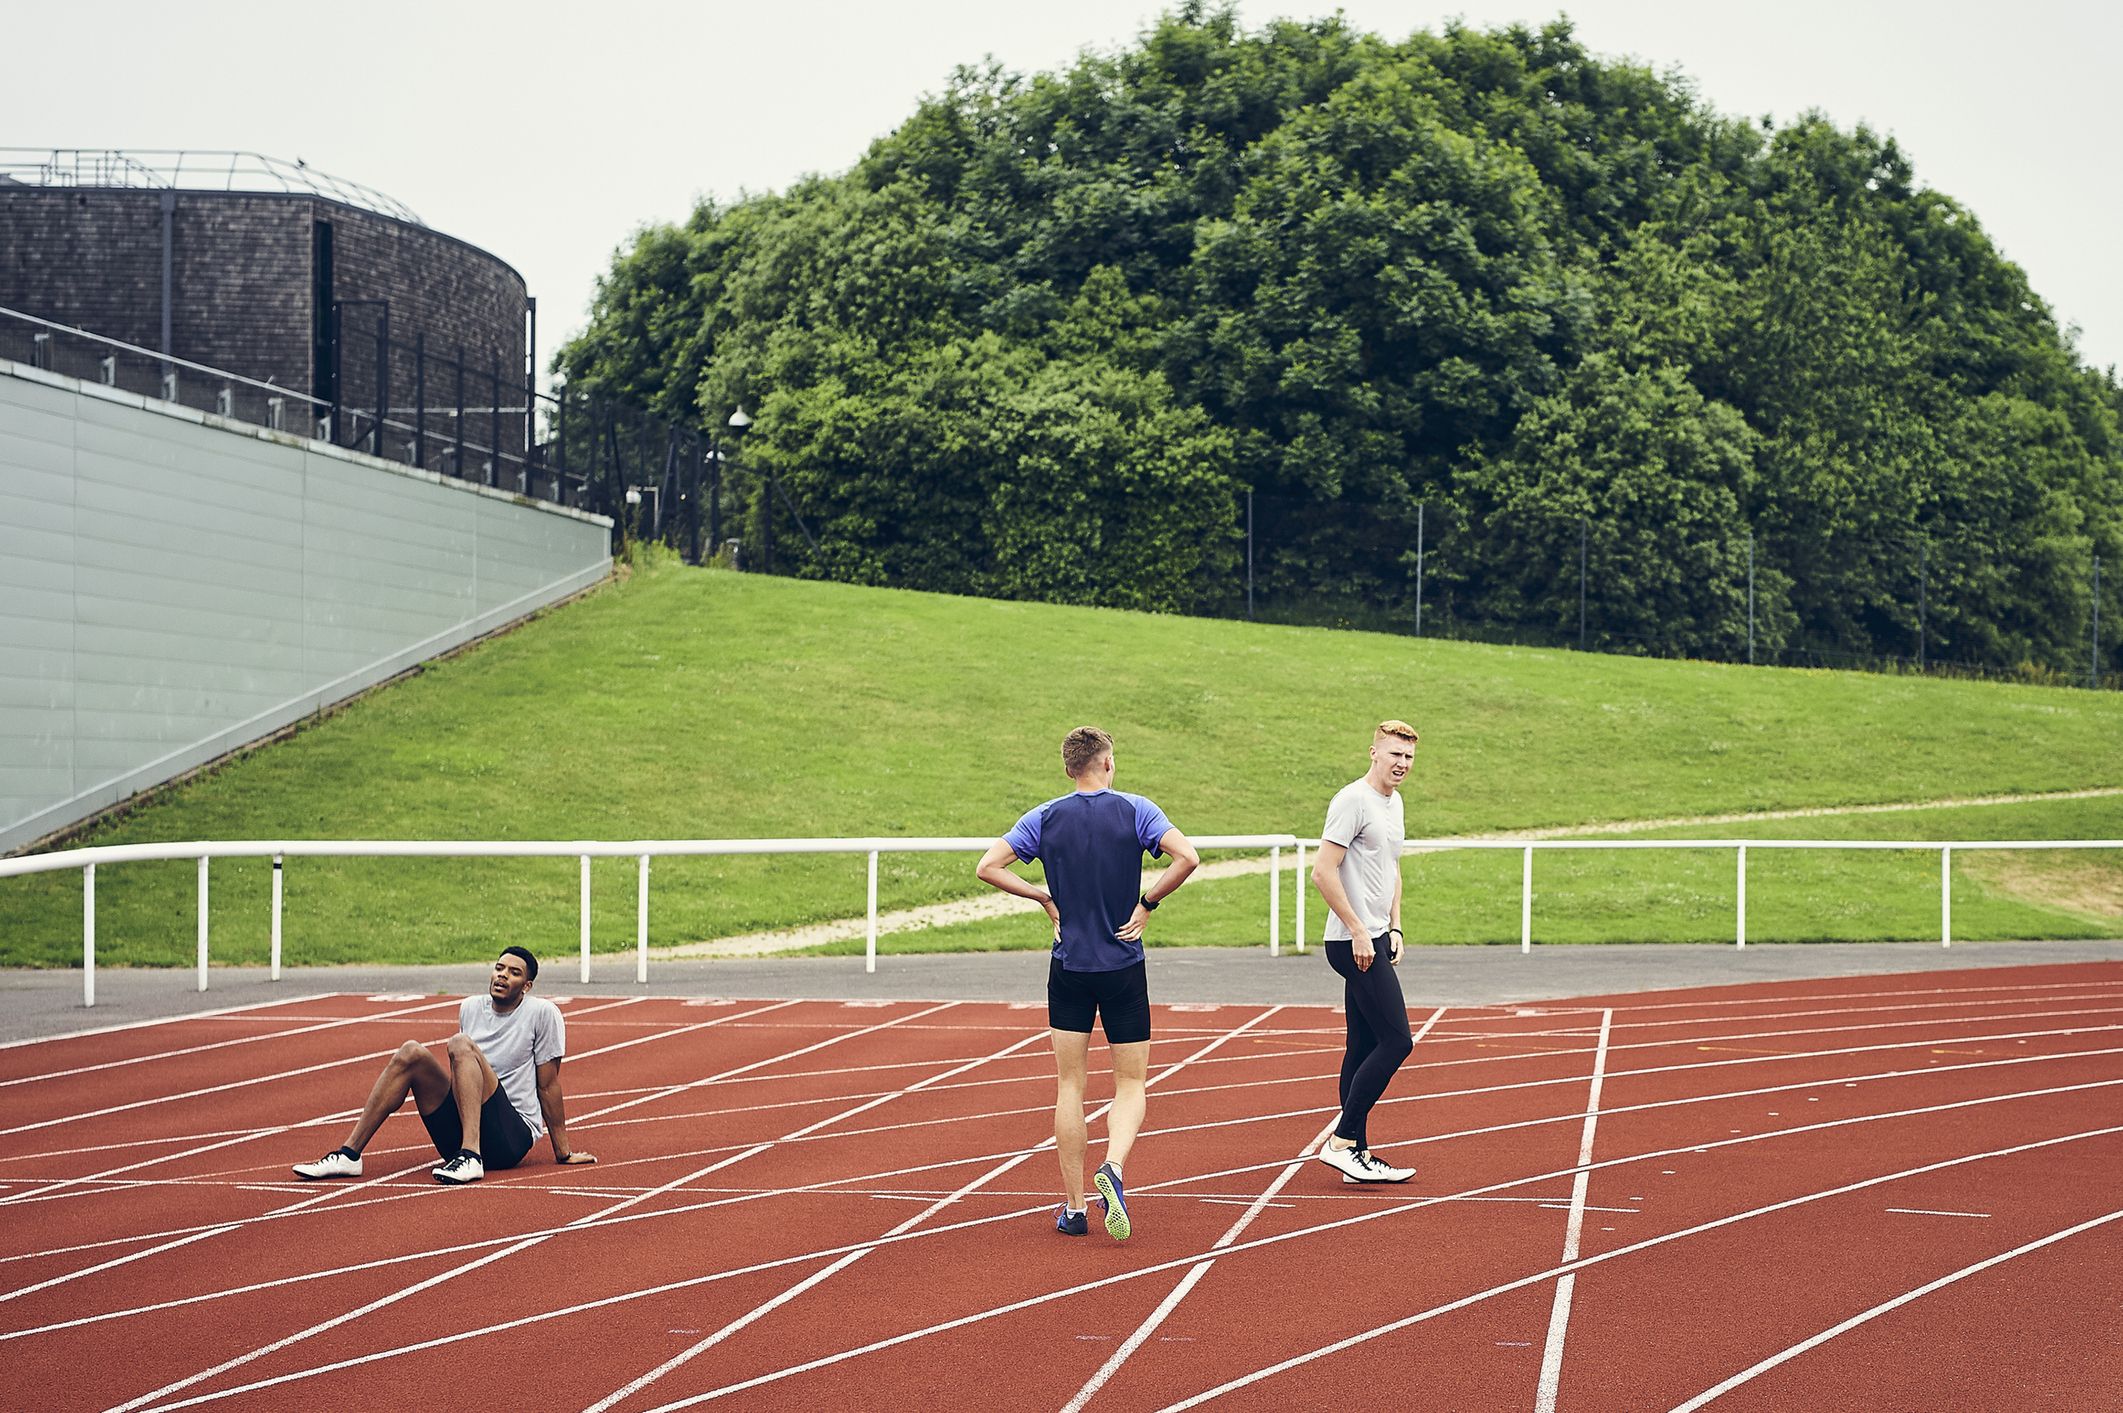
[{"label": "man in grey t-shirt and black shorts sitting on the track", "polygon": [[484,995],[467,995],[456,1008],[456,1035],[444,1046],[446,1059],[418,1040],[408,1040],[384,1065],[369,1101],[346,1135],[346,1146],[316,1163],[297,1163],[297,1178],[359,1178],[361,1150],[384,1120],[405,1103],[420,1107],[420,1122],[435,1141],[442,1163],[435,1182],[478,1182],[488,1169],[516,1167],[539,1133],[552,1137],[554,1163],[597,1163],[567,1146],[567,1114],[560,1101],[560,1057],[567,1054],[567,1025],[560,1008],[531,995],[537,957],[522,946],[503,946]]}]

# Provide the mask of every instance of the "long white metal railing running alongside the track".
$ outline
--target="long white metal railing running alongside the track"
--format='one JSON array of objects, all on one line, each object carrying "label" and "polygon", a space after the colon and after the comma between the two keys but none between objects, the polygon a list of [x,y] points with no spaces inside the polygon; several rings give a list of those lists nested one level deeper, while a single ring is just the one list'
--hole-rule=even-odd
[{"label": "long white metal railing running alongside the track", "polygon": [[[692,840],[200,840],[180,844],[100,844],[0,859],[0,878],[81,870],[81,1004],[96,1006],[96,866],[138,864],[151,859],[195,859],[200,866],[200,931],[197,984],[206,991],[208,953],[208,864],[212,859],[270,857],[272,872],[272,978],[280,980],[280,870],[289,857],[399,857],[399,859],[582,859],[582,980],[590,980],[590,859],[639,859],[635,880],[635,980],[650,978],[650,859],[777,855],[777,853],[860,853],[868,857],[868,927],[864,970],[877,970],[877,859],[885,853],[983,853],[994,838],[692,838]],[[1318,849],[1316,838],[1295,834],[1212,834],[1191,840],[1195,849],[1265,849],[1267,851],[1267,950],[1282,953],[1282,851],[1295,851],[1297,870],[1297,950],[1306,950],[1306,849]],[[2051,840],[1817,840],[1817,838],[1427,838],[1408,840],[1408,853],[1442,853],[1452,849],[1518,849],[1518,950],[1533,950],[1533,855],[1556,849],[1732,849],[1737,853],[1739,908],[1734,946],[1747,946],[1747,851],[1749,849],[1870,849],[1921,853],[1938,851],[1938,944],[1953,946],[1953,855],[1981,849],[2123,849],[2115,838],[2051,838]]]}]

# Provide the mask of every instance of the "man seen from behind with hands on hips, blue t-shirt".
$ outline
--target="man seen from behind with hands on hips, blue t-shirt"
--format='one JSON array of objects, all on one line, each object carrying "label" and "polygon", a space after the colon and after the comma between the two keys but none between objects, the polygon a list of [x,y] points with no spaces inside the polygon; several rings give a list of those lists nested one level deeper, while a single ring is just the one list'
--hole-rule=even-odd
[{"label": "man seen from behind with hands on hips, blue t-shirt", "polygon": [[[1202,861],[1187,836],[1142,796],[1112,789],[1112,736],[1078,726],[1062,740],[1062,768],[1076,789],[1025,810],[1008,834],[981,855],[981,883],[1030,897],[1055,925],[1047,963],[1047,1027],[1055,1046],[1055,1152],[1062,1158],[1062,1209],[1055,1231],[1081,1237],[1089,1228],[1083,1194],[1083,1082],[1091,1050],[1091,1016],[1112,1046],[1112,1107],[1106,1114],[1106,1161],[1091,1175],[1106,1207],[1106,1231],[1125,1241],[1127,1192],[1121,1165],[1142,1129],[1142,1084],[1151,1067],[1151,989],[1142,961],[1142,925]],[[1172,864],[1142,889],[1142,855]],[[1025,883],[1011,864],[1047,866],[1047,887]]]}]

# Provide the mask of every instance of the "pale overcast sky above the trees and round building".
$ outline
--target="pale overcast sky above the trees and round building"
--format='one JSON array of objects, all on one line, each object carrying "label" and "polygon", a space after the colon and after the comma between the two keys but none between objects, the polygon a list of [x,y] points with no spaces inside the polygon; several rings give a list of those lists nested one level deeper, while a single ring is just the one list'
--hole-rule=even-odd
[{"label": "pale overcast sky above the trees and round building", "polygon": [[[539,301],[541,356],[584,322],[611,250],[701,195],[847,168],[955,64],[1066,66],[1129,42],[1155,0],[766,0],[684,4],[13,6],[0,144],[248,149],[376,187],[510,261]],[[1327,0],[1238,6],[1246,25]],[[1807,108],[1900,138],[1917,178],[1972,208],[2123,363],[2123,216],[2112,66],[2123,6],[2098,0],[1346,0],[1388,36],[1541,23],[1688,74],[1732,115]]]}]

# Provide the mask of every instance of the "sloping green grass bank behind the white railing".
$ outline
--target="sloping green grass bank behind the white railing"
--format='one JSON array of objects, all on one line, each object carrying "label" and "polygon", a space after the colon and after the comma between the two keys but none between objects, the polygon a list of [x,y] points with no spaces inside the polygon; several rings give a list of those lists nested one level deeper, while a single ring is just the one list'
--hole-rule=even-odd
[{"label": "sloping green grass bank behind the white railing", "polygon": [[[1384,715],[1422,730],[1412,834],[2123,783],[2119,694],[989,603],[658,560],[79,842],[994,836],[1068,787],[1059,738],[1083,721],[1115,734],[1119,787],[1155,796],[1189,834],[1312,834]],[[2015,808],[2061,810],[2038,834],[2123,832],[2112,808]],[[1894,834],[1913,819],[1805,823]],[[970,864],[887,855],[879,904],[974,893]],[[573,950],[575,868],[291,859],[287,957],[456,961],[507,942]],[[1671,876],[1641,868],[1616,855],[1539,859],[1537,940],[1730,936],[1730,855]],[[1892,917],[1872,897],[1868,870],[1879,868],[1917,878]],[[1936,874],[1928,855],[1751,859],[1749,934],[1906,925],[1923,936],[1928,868]],[[1410,870],[1416,940],[1518,938],[1516,855]],[[1807,883],[1805,870],[1826,872]],[[1991,874],[1966,864],[1964,876],[1955,912],[1979,936]],[[214,959],[261,961],[270,866],[217,864],[212,878]],[[633,946],[633,880],[631,859],[594,866],[597,950]],[[1265,887],[1189,889],[1161,919],[1163,940],[1265,936]],[[2044,887],[2100,895],[2100,883],[2030,861],[2019,891],[1998,887],[1998,908],[2021,908],[1998,914],[2002,934],[2100,931],[2085,908],[2038,925],[2025,912],[2034,904],[2013,902]],[[1824,902],[1843,895],[1862,906]],[[654,870],[650,934],[656,944],[730,936],[860,914],[862,902],[860,857],[669,859]],[[185,965],[193,925],[191,864],[98,870],[100,961]],[[921,940],[947,942],[945,931]],[[74,965],[79,955],[79,874],[0,880],[0,961]]]}]

